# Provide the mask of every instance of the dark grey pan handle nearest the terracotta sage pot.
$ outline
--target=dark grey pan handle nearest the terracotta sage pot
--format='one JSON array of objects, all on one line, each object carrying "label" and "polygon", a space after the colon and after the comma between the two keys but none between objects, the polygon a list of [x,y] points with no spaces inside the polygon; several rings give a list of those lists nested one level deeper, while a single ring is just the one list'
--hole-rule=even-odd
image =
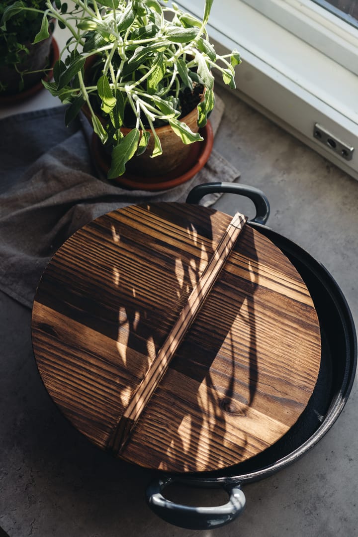
[{"label": "dark grey pan handle nearest the terracotta sage pot", "polygon": [[270,214],[270,206],[268,199],[264,192],[249,185],[238,185],[236,183],[206,183],[194,188],[189,192],[186,202],[189,204],[197,204],[201,198],[206,194],[215,193],[231,193],[239,194],[250,198],[254,202],[256,209],[256,216],[251,222],[257,224],[265,224]]}]

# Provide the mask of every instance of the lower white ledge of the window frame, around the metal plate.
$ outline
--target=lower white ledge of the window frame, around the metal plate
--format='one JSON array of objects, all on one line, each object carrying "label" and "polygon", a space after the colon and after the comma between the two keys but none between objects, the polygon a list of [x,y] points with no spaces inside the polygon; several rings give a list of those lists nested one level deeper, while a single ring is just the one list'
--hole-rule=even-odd
[{"label": "lower white ledge of the window frame, around the metal plate", "polygon": [[[201,16],[202,3],[178,5]],[[358,77],[241,0],[214,2],[208,31],[218,53],[237,48],[237,95],[358,179]],[[355,148],[346,161],[313,137],[315,124]]]}]

